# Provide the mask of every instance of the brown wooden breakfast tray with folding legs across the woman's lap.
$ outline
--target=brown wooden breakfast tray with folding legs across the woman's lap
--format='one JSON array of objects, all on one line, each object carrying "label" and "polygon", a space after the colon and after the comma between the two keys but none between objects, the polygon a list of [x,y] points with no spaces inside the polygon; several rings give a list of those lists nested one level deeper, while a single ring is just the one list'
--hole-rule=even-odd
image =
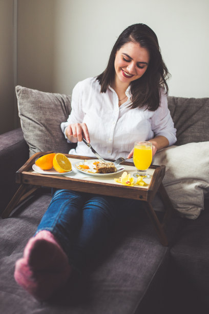
[{"label": "brown wooden breakfast tray with folding legs across the woman's lap", "polygon": [[[85,175],[85,177],[80,179],[75,179],[64,175],[49,175],[40,174],[34,172],[32,169],[35,160],[42,155],[51,152],[38,152],[34,154],[17,172],[16,172],[16,183],[20,183],[20,187],[14,194],[14,197],[2,213],[2,218],[9,217],[12,210],[23,200],[25,200],[31,193],[33,193],[37,188],[44,187],[54,187],[59,189],[68,189],[74,191],[97,193],[102,195],[111,195],[115,197],[128,198],[141,200],[146,205],[145,208],[151,219],[155,230],[158,234],[159,240],[162,245],[168,246],[168,239],[163,230],[164,225],[170,219],[174,209],[172,203],[166,193],[162,179],[165,174],[165,166],[151,166],[148,172],[152,175],[152,178],[147,181],[147,186],[124,186],[114,181],[114,178],[119,178],[122,172],[108,176],[93,176]],[[71,163],[78,162],[79,160],[92,159],[86,156],[77,156],[65,154],[70,158]],[[121,164],[124,167],[124,171],[133,174],[136,171],[133,163],[123,162]],[[161,200],[165,207],[165,213],[163,222],[157,218],[155,211],[151,205],[152,200],[155,197],[156,192],[159,193]]]}]

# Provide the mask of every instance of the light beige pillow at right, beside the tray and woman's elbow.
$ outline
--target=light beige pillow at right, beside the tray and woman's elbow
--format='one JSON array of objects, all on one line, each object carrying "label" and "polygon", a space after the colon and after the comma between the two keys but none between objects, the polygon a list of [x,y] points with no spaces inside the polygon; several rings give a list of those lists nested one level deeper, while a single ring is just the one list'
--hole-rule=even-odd
[{"label": "light beige pillow at right, beside the tray and woman's elbow", "polygon": [[196,219],[209,193],[209,142],[171,146],[158,151],[153,164],[166,165],[163,185],[179,213]]}]

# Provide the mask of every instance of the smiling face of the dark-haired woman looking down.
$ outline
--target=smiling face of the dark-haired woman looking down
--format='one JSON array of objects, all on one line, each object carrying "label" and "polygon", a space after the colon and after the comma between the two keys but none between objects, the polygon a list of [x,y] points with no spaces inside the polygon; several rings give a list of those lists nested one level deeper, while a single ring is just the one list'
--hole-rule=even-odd
[{"label": "smiling face of the dark-haired woman looking down", "polygon": [[145,73],[149,61],[148,49],[138,43],[124,44],[115,55],[115,83],[123,83],[128,87]]}]

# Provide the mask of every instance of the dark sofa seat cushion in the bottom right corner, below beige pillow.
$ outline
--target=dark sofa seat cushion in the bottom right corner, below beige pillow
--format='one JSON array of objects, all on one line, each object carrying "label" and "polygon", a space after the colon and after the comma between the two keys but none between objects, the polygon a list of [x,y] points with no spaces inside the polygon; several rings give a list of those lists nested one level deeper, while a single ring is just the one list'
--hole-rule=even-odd
[{"label": "dark sofa seat cushion in the bottom right corner, below beige pillow", "polygon": [[177,294],[181,296],[187,306],[196,301],[198,310],[193,308],[192,313],[208,313],[209,310],[208,223],[208,210],[203,211],[197,220],[184,220],[184,226],[171,249],[171,285],[175,297],[178,298]]}]

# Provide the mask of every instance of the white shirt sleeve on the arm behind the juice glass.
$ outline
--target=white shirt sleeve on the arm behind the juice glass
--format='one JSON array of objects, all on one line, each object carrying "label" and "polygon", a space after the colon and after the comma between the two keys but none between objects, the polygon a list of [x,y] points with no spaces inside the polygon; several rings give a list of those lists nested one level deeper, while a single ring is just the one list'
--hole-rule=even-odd
[{"label": "white shirt sleeve on the arm behind the juice glass", "polygon": [[161,92],[160,106],[151,118],[151,126],[154,136],[165,136],[169,141],[169,146],[176,142],[176,129],[168,108],[167,96],[164,92]]}]

